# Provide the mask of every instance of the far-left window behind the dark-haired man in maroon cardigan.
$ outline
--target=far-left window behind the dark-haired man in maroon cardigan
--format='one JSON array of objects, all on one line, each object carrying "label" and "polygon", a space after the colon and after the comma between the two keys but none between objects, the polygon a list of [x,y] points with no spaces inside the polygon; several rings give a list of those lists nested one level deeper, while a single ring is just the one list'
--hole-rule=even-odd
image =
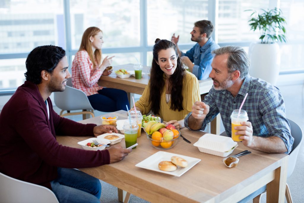
[{"label": "far-left window behind the dark-haired man in maroon cardigan", "polygon": [[[29,53],[40,45],[65,47],[63,0],[11,0],[0,4],[0,54]],[[25,58],[0,60],[2,88],[24,82]]]}]

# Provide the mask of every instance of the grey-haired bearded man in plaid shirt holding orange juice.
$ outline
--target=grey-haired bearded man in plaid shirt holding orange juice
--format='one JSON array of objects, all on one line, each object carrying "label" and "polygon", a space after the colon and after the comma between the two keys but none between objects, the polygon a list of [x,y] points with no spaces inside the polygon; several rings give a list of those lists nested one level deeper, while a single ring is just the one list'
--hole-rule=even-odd
[{"label": "grey-haired bearded man in plaid shirt holding orange juice", "polygon": [[227,46],[214,50],[212,71],[209,75],[213,87],[204,102],[196,101],[192,112],[185,117],[185,126],[204,130],[217,114],[222,117],[227,135],[231,137],[233,110],[242,109],[249,121],[234,127],[242,143],[255,150],[268,153],[289,153],[294,138],[285,115],[285,105],[278,88],[268,82],[248,75],[250,61],[241,47]]}]

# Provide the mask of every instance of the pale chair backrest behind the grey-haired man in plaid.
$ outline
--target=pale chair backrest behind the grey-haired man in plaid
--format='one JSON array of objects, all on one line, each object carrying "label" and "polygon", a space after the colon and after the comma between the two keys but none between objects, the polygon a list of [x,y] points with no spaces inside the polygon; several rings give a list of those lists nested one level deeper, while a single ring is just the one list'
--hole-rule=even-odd
[{"label": "pale chair backrest behind the grey-haired man in plaid", "polygon": [[292,151],[289,153],[287,177],[290,177],[295,169],[295,163],[299,154],[301,143],[303,140],[303,131],[294,121],[287,119],[290,124],[291,136],[295,139],[292,145]]}]

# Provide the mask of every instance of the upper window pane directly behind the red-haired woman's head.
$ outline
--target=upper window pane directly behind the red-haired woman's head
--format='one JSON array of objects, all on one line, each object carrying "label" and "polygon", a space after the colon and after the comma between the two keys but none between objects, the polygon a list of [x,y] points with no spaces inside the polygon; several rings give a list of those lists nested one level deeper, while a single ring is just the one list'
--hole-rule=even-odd
[{"label": "upper window pane directly behind the red-haired woman's head", "polygon": [[79,49],[85,29],[91,26],[102,30],[103,47],[140,46],[139,0],[70,2],[72,49]]}]

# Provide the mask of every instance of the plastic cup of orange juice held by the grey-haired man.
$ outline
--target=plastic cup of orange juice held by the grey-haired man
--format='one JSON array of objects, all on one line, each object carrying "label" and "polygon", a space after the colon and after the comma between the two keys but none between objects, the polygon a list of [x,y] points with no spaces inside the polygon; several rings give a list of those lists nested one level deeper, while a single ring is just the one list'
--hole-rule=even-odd
[{"label": "plastic cup of orange juice held by the grey-haired man", "polygon": [[236,142],[240,142],[242,141],[240,139],[240,136],[242,135],[236,135],[235,133],[238,131],[238,130],[235,130],[234,127],[236,126],[242,126],[240,123],[241,122],[244,122],[244,121],[248,121],[249,118],[248,118],[248,115],[247,115],[247,112],[245,110],[241,110],[240,111],[240,114],[239,114],[239,110],[236,109],[236,110],[233,110],[230,118],[231,118],[231,138],[236,141]]}]

